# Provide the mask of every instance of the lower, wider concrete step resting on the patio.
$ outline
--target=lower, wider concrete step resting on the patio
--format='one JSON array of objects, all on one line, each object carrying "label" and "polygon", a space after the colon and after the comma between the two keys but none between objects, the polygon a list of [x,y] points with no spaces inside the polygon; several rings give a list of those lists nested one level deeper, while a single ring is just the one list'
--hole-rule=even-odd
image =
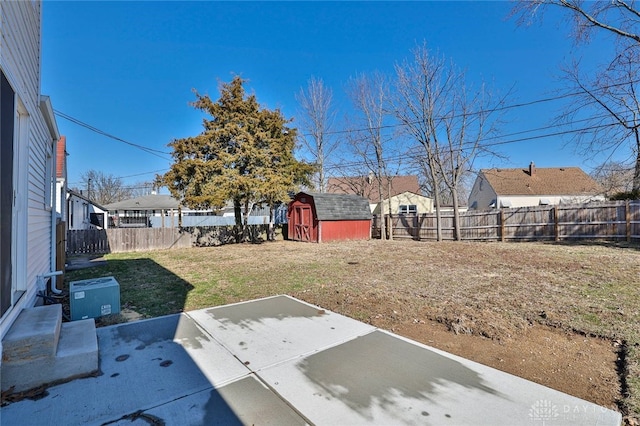
[{"label": "lower, wider concrete step resting on the patio", "polygon": [[[58,336],[57,348],[53,356],[24,358],[12,356],[10,359],[5,359],[3,348],[0,372],[2,391],[13,387],[13,392],[22,392],[47,383],[86,377],[98,371],[98,338],[95,321],[92,318],[62,323]],[[12,351],[13,353],[15,352]]]}]

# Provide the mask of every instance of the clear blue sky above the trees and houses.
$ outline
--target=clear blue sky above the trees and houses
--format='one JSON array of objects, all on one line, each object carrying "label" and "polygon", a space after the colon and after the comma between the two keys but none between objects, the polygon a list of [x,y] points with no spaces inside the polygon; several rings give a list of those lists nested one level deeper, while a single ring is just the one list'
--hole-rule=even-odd
[{"label": "clear blue sky above the trees and houses", "polygon": [[[596,39],[575,46],[561,12],[519,27],[510,2],[43,2],[42,93],[54,109],[128,142],[160,152],[174,138],[200,133],[192,89],[218,98],[218,82],[235,74],[269,108],[295,118],[295,94],[310,77],[332,88],[339,114],[356,73],[392,73],[416,43],[445,55],[474,82],[511,104],[553,96],[559,66],[572,57],[595,66],[607,53]],[[514,108],[504,134],[550,124],[561,102]],[[294,124],[295,126],[295,121]],[[67,137],[71,186],[93,169],[127,185],[166,171],[168,154],[150,154],[58,117]],[[553,131],[553,130],[551,130]],[[530,134],[528,134],[530,135]],[[505,137],[505,139],[514,139]],[[505,144],[508,159],[479,167],[581,166],[561,137]],[[624,157],[626,153],[618,153]]]}]

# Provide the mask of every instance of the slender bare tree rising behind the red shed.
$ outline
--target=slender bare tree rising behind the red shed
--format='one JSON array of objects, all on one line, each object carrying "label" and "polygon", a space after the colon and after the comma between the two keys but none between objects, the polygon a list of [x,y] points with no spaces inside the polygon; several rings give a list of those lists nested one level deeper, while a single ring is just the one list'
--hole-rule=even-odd
[{"label": "slender bare tree rising behind the red shed", "polygon": [[337,147],[337,140],[331,137],[335,120],[333,91],[324,85],[322,79],[312,77],[306,91],[300,89],[296,95],[300,104],[300,139],[313,157],[317,167],[317,190],[326,191],[326,161]]}]

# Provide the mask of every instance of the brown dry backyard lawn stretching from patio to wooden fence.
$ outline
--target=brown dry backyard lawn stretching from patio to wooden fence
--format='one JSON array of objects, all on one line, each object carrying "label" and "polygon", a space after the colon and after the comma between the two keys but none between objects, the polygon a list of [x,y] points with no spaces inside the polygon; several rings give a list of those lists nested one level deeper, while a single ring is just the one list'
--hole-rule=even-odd
[{"label": "brown dry backyard lawn stretching from patio to wooden fence", "polygon": [[144,317],[289,294],[640,417],[640,247],[278,241],[107,256]]}]

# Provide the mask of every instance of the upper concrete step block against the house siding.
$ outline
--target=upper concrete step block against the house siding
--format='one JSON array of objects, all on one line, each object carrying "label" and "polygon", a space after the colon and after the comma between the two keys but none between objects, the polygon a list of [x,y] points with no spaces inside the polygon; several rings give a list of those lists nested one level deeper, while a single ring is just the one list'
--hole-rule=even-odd
[{"label": "upper concrete step block against the house siding", "polygon": [[23,309],[2,341],[2,363],[55,356],[61,324],[62,305]]}]

